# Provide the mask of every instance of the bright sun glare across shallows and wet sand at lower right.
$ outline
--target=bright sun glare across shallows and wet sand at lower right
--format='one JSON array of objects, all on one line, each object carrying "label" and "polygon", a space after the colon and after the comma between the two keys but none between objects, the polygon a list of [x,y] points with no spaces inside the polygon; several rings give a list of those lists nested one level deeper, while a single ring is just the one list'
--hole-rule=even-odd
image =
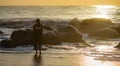
[{"label": "bright sun glare across shallows and wet sand at lower right", "polygon": [[[87,56],[79,57],[79,66],[119,66],[111,61],[106,60],[116,60],[113,58],[113,46],[100,45],[94,48],[93,51]],[[114,54],[113,54],[114,55]]]}]

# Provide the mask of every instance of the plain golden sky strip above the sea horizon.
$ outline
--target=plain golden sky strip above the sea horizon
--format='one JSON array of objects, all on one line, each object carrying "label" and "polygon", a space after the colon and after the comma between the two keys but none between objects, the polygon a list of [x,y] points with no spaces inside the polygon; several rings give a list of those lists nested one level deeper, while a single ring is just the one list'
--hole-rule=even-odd
[{"label": "plain golden sky strip above the sea horizon", "polygon": [[114,5],[120,6],[120,0],[0,0],[0,5],[23,6],[81,6]]}]

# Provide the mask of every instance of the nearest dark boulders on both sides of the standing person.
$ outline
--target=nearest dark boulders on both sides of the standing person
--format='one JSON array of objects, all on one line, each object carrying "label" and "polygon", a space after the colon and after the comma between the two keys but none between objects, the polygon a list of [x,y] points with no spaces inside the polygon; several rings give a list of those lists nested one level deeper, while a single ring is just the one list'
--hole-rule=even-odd
[{"label": "nearest dark boulders on both sides of the standing person", "polygon": [[[61,42],[84,42],[82,35],[73,26],[63,26],[57,30],[44,26],[42,44],[61,44]],[[17,30],[13,31],[9,40],[2,40],[1,46],[13,48],[21,45],[33,45],[33,30]]]}]

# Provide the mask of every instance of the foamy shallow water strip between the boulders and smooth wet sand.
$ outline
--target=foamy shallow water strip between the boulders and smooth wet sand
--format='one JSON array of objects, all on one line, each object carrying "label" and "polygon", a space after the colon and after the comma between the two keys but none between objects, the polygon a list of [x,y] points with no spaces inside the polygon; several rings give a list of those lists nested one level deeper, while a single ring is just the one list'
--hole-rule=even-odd
[{"label": "foamy shallow water strip between the boulders and smooth wet sand", "polygon": [[[94,45],[94,44],[95,45]],[[102,61],[120,61],[120,50],[114,48],[119,41],[95,41],[89,42],[94,47],[87,47],[82,43],[62,43],[62,45],[42,46],[42,53],[45,54],[84,54],[89,57],[95,57]],[[0,48],[0,53],[20,54],[35,53],[33,46],[19,46],[16,48]]]}]

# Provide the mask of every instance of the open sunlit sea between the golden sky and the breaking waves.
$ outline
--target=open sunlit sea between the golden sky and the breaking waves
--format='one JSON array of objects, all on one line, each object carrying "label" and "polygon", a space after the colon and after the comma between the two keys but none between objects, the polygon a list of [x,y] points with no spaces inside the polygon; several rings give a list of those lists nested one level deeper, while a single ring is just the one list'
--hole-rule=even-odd
[{"label": "open sunlit sea between the golden sky and the breaking waves", "polygon": [[120,22],[120,7],[85,7],[85,6],[0,6],[0,19],[10,18],[43,18],[62,19],[73,18],[107,18]]}]

